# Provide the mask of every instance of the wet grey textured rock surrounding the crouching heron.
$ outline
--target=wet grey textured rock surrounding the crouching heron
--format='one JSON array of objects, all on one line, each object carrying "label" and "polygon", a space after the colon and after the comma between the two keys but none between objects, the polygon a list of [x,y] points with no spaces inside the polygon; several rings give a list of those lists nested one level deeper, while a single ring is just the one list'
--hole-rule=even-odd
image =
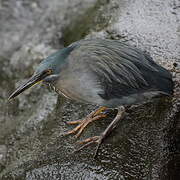
[{"label": "wet grey textured rock surrounding the crouching heron", "polygon": [[[180,179],[179,98],[128,109],[96,160],[94,146],[73,153],[76,139],[62,136],[71,128],[67,121],[96,107],[42,86],[7,102],[44,57],[84,36],[128,41],[171,69],[180,55],[178,3],[1,0],[0,179]],[[179,79],[176,74],[174,80]],[[98,135],[111,119],[92,124],[82,138]]]}]

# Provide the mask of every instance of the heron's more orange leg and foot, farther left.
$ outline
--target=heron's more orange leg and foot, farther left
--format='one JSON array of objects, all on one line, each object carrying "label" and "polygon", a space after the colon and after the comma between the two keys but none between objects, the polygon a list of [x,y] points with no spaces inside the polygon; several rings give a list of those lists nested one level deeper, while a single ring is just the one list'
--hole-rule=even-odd
[{"label": "heron's more orange leg and foot, farther left", "polygon": [[70,124],[70,125],[74,125],[74,124],[78,124],[78,125],[73,130],[68,131],[64,135],[76,134],[75,137],[78,138],[89,123],[99,120],[99,119],[102,119],[107,116],[107,113],[104,113],[105,110],[107,110],[106,107],[101,107],[101,108],[91,112],[83,120],[67,122],[67,124]]}]

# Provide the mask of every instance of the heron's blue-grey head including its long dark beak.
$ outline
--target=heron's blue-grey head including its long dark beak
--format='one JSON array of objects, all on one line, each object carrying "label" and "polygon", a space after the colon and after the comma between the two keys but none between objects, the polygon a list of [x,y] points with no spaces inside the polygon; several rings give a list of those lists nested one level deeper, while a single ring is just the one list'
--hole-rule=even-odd
[{"label": "heron's blue-grey head including its long dark beak", "polygon": [[13,99],[26,89],[29,89],[40,82],[53,83],[56,81],[60,76],[61,69],[66,65],[66,58],[71,50],[72,48],[64,48],[44,59],[39,64],[32,77],[24,84],[20,85],[8,99]]}]

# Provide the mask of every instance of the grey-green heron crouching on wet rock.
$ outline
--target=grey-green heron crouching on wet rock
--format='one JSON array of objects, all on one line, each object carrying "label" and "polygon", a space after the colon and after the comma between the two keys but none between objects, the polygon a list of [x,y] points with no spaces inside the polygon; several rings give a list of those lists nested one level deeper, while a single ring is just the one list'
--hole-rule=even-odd
[{"label": "grey-green heron crouching on wet rock", "polygon": [[100,135],[81,141],[79,150],[97,143],[94,157],[104,139],[125,116],[127,106],[171,96],[174,88],[171,73],[148,53],[119,40],[100,38],[82,39],[51,54],[8,99],[40,82],[71,100],[99,106],[86,118],[67,122],[77,126],[65,135],[79,137],[91,122],[117,110]]}]

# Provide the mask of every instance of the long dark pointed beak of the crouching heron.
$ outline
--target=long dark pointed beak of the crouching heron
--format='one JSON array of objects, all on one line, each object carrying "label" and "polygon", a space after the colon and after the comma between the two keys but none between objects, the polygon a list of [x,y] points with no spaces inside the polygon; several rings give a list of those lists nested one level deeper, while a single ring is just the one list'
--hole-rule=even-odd
[{"label": "long dark pointed beak of the crouching heron", "polygon": [[13,99],[14,97],[18,96],[19,94],[21,94],[23,91],[25,91],[26,89],[29,89],[30,87],[32,87],[33,85],[39,84],[41,81],[43,81],[43,79],[50,75],[48,72],[41,72],[38,74],[35,74],[34,76],[32,76],[27,82],[25,82],[24,84],[22,84],[21,86],[19,86],[8,98],[8,100]]}]

